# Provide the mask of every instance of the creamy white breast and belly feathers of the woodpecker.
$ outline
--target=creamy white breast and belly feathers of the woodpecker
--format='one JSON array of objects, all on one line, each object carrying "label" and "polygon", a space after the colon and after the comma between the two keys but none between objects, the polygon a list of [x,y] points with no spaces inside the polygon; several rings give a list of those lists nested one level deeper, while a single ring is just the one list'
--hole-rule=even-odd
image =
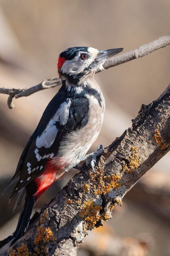
[{"label": "creamy white breast and belly feathers of the woodpecker", "polygon": [[[63,159],[62,164],[66,164],[65,171],[68,171],[81,161],[81,158],[87,153],[92,143],[98,137],[102,126],[104,106],[102,106],[102,109],[100,108],[96,97],[89,96],[88,94],[86,94],[86,97],[89,99],[89,121],[87,125],[80,130],[67,134],[65,139],[61,141],[59,152],[57,153],[57,157]],[[101,98],[103,105],[104,99],[102,95]],[[59,159],[56,158],[56,161],[59,161]],[[67,163],[69,164],[67,165]]]}]

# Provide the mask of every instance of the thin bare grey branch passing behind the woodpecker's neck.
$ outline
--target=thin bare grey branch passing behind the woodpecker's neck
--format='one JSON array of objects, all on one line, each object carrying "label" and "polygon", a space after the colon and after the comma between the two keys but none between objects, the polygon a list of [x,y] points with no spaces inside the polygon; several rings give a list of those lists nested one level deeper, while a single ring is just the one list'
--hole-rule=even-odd
[{"label": "thin bare grey branch passing behind the woodpecker's neck", "polygon": [[[146,45],[139,46],[139,48],[137,49],[133,49],[117,57],[107,59],[104,64],[104,68],[108,69],[110,67],[120,65],[127,61],[131,61],[139,57],[141,58],[169,44],[170,44],[170,34],[166,36],[161,36],[157,40],[154,40]],[[61,80],[59,78],[50,78],[28,89],[0,88],[0,93],[9,95],[7,105],[9,106],[10,109],[12,109],[12,108],[15,108],[15,105],[13,104],[13,98],[17,99],[20,97],[26,97],[40,90],[53,88],[58,85],[61,85]]]}]

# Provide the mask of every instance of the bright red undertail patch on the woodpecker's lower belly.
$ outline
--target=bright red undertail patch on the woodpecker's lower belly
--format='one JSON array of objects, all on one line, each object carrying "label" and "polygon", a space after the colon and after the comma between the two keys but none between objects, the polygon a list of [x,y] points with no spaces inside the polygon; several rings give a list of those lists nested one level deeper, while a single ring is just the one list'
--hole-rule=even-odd
[{"label": "bright red undertail patch on the woodpecker's lower belly", "polygon": [[59,166],[55,166],[51,161],[46,165],[45,171],[39,176],[35,178],[35,183],[37,185],[37,192],[34,194],[37,196],[37,200],[40,195],[49,188],[49,186],[54,183],[54,181],[59,180],[65,171],[63,170],[63,166],[59,168]]}]

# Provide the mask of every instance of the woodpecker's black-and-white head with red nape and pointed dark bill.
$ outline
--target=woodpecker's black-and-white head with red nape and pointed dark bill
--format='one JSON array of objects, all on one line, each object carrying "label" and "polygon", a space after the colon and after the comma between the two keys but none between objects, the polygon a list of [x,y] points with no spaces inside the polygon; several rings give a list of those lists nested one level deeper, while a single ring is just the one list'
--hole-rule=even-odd
[{"label": "woodpecker's black-and-white head with red nape and pointed dark bill", "polygon": [[[59,76],[81,79],[103,70],[106,59],[122,52],[123,48],[99,51],[92,47],[71,47],[61,52],[58,60]],[[69,79],[69,80],[70,80]]]}]

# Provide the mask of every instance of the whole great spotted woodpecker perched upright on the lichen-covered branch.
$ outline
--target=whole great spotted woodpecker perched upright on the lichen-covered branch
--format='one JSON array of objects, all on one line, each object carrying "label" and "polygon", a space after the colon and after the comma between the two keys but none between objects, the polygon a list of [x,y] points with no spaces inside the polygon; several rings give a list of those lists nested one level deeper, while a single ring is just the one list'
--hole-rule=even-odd
[{"label": "whole great spotted woodpecker perched upright on the lichen-covered branch", "polygon": [[105,111],[105,99],[94,74],[103,70],[107,58],[122,50],[72,47],[59,55],[62,86],[46,107],[9,183],[17,181],[9,202],[23,187],[26,191],[12,244],[26,232],[40,195],[87,158],[85,154],[98,137]]}]

